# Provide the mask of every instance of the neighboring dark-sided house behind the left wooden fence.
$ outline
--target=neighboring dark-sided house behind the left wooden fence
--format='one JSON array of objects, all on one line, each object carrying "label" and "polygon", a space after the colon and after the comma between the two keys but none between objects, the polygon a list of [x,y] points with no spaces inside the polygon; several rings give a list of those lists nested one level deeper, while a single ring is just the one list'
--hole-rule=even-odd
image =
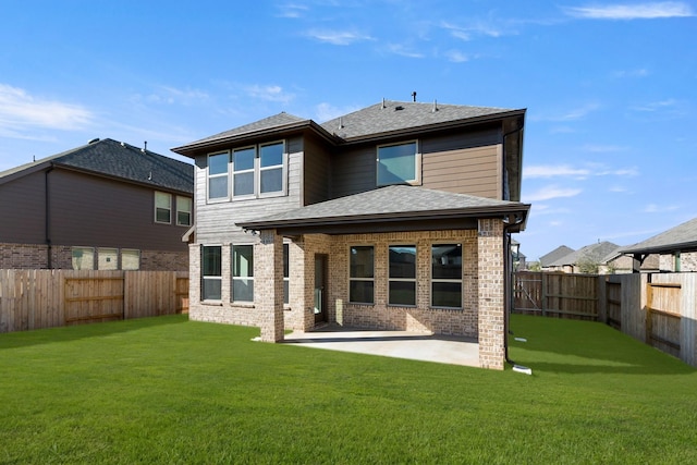
[{"label": "neighboring dark-sided house behind the left wooden fence", "polygon": [[0,268],[187,270],[194,167],[112,139],[0,172]]}]

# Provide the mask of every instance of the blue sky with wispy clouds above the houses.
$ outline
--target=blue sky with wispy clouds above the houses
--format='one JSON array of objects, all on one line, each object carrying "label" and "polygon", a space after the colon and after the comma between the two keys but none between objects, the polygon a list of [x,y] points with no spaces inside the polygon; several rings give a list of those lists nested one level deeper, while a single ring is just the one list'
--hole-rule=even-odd
[{"label": "blue sky with wispy clouds above the houses", "polygon": [[696,32],[695,1],[2,0],[0,170],[416,91],[527,109],[528,259],[629,245],[697,217]]}]

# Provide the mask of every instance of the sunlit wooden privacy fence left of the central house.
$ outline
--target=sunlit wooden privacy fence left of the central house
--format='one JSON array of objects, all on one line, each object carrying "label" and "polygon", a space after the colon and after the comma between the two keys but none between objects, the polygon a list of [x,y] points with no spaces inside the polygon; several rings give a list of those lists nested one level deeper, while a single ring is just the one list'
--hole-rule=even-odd
[{"label": "sunlit wooden privacy fence left of the central house", "polygon": [[0,333],[186,310],[186,271],[0,270]]}]

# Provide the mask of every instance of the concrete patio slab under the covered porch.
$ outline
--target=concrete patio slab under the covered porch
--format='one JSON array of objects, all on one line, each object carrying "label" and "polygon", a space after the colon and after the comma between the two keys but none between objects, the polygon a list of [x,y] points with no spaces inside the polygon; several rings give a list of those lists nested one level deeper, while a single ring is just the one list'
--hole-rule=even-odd
[{"label": "concrete patio slab under the covered porch", "polygon": [[285,335],[285,344],[384,357],[479,367],[479,344],[460,336],[412,331],[372,331],[329,325]]}]

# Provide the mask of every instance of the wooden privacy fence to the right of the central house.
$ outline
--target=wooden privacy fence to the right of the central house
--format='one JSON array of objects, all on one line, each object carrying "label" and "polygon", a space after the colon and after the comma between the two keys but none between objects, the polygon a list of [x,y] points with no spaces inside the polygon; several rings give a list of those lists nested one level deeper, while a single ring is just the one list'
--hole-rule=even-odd
[{"label": "wooden privacy fence to the right of the central house", "polygon": [[697,366],[697,273],[522,271],[513,311],[601,321]]}]

